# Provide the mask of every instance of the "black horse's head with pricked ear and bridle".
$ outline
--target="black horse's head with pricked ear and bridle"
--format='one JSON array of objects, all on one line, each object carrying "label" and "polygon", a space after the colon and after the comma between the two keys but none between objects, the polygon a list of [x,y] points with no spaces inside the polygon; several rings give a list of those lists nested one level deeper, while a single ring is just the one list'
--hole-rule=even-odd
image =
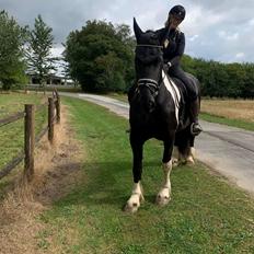
[{"label": "black horse's head with pricked ear and bridle", "polygon": [[134,31],[137,41],[135,69],[137,78],[137,99],[147,112],[155,108],[161,70],[163,66],[162,47],[153,31],[142,32],[134,19]]}]

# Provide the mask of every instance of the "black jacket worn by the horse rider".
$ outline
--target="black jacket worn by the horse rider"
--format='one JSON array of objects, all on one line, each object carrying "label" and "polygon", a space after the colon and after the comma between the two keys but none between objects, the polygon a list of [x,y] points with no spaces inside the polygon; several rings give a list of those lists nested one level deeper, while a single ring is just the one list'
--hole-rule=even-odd
[{"label": "black jacket worn by the horse rider", "polygon": [[172,66],[180,65],[180,59],[184,54],[185,35],[178,28],[170,30],[168,27],[155,31],[160,44],[163,46],[164,62]]}]

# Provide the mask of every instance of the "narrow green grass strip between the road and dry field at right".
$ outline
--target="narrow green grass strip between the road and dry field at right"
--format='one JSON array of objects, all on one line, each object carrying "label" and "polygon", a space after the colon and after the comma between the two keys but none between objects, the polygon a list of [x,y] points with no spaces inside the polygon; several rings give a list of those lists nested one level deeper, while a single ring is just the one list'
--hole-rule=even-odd
[{"label": "narrow green grass strip between the road and dry field at right", "polygon": [[[244,114],[244,113],[243,113]],[[216,116],[207,113],[201,113],[200,118],[210,123],[218,123],[222,125],[233,126],[246,130],[254,131],[254,123],[253,122],[244,122],[240,119],[229,119],[222,116]]]}]

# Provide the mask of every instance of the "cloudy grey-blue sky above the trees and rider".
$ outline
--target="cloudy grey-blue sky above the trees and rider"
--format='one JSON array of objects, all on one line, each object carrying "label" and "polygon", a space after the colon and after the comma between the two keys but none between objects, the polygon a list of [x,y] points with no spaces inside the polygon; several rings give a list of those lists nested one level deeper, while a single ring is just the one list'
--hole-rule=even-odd
[{"label": "cloudy grey-blue sky above the trees and rider", "polygon": [[143,31],[158,30],[175,4],[186,9],[181,24],[185,54],[221,62],[254,62],[254,0],[0,0],[0,10],[31,28],[41,14],[53,28],[53,51],[59,55],[68,34],[81,30],[88,20],[124,23],[132,30],[135,16]]}]

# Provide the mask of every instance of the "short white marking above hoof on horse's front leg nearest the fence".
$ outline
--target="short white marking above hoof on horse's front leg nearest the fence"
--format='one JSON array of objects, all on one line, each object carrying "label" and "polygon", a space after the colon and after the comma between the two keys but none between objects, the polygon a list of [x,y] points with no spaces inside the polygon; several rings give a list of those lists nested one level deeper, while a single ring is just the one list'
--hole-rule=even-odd
[{"label": "short white marking above hoof on horse's front leg nearest the fence", "polygon": [[134,184],[132,194],[128,199],[124,210],[128,212],[136,212],[140,207],[140,203],[145,198],[142,195],[142,187],[140,182],[138,182],[137,184]]}]

